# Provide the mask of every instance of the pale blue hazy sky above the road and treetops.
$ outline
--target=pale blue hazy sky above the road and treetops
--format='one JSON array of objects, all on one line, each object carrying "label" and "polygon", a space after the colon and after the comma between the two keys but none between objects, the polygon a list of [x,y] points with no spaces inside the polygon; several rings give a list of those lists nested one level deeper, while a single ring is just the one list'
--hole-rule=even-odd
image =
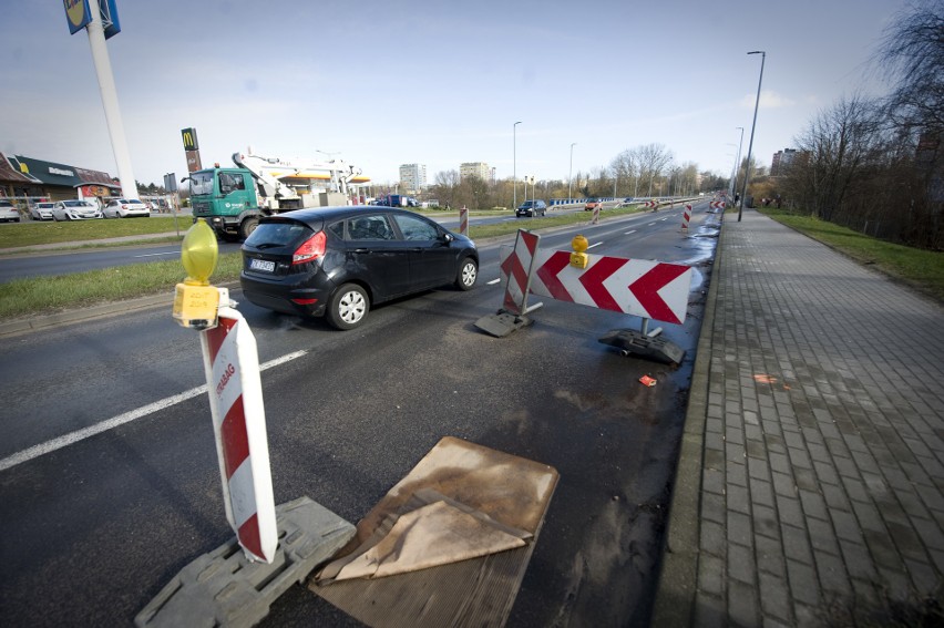
[{"label": "pale blue hazy sky above the road and treetops", "polygon": [[[869,74],[900,0],[117,0],[107,41],[135,178],[234,152],[338,154],[376,183],[400,164],[486,162],[499,178],[566,179],[658,143],[677,164],[770,165]],[[117,175],[88,34],[62,2],[0,21],[0,151]],[[521,124],[513,132],[516,121]]]}]

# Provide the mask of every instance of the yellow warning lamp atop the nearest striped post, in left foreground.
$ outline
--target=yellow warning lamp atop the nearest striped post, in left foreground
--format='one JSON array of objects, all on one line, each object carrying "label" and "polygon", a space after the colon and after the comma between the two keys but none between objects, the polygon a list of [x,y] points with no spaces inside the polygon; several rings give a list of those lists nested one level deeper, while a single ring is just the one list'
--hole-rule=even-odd
[{"label": "yellow warning lamp atop the nearest striped post, in left foreground", "polygon": [[219,248],[216,234],[201,218],[187,229],[181,244],[181,261],[187,271],[174,294],[174,320],[182,327],[209,329],[216,327],[219,289],[209,285],[216,268]]}]

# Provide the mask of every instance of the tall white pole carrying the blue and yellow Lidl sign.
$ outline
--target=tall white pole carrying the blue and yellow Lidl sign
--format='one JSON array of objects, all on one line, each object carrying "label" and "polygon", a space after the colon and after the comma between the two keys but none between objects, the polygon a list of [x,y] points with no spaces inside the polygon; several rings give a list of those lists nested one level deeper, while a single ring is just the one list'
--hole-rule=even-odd
[{"label": "tall white pole carrying the blue and yellow Lidl sign", "polygon": [[[109,136],[112,140],[112,152],[115,155],[119,179],[121,179],[121,194],[125,198],[137,198],[137,184],[131,167],[131,153],[127,150],[127,137],[124,134],[124,124],[121,120],[121,110],[117,104],[117,92],[115,80],[112,74],[112,63],[109,59],[109,49],[105,47],[105,27],[102,23],[102,8],[96,0],[63,0],[65,17],[69,20],[70,31],[73,33],[84,25],[89,33],[89,45],[92,48],[92,61],[95,64],[95,74],[99,78],[99,90],[102,93],[102,106],[105,110],[105,122],[109,127]],[[105,2],[109,9],[111,23],[110,34],[117,32],[117,11],[114,1]]]}]

